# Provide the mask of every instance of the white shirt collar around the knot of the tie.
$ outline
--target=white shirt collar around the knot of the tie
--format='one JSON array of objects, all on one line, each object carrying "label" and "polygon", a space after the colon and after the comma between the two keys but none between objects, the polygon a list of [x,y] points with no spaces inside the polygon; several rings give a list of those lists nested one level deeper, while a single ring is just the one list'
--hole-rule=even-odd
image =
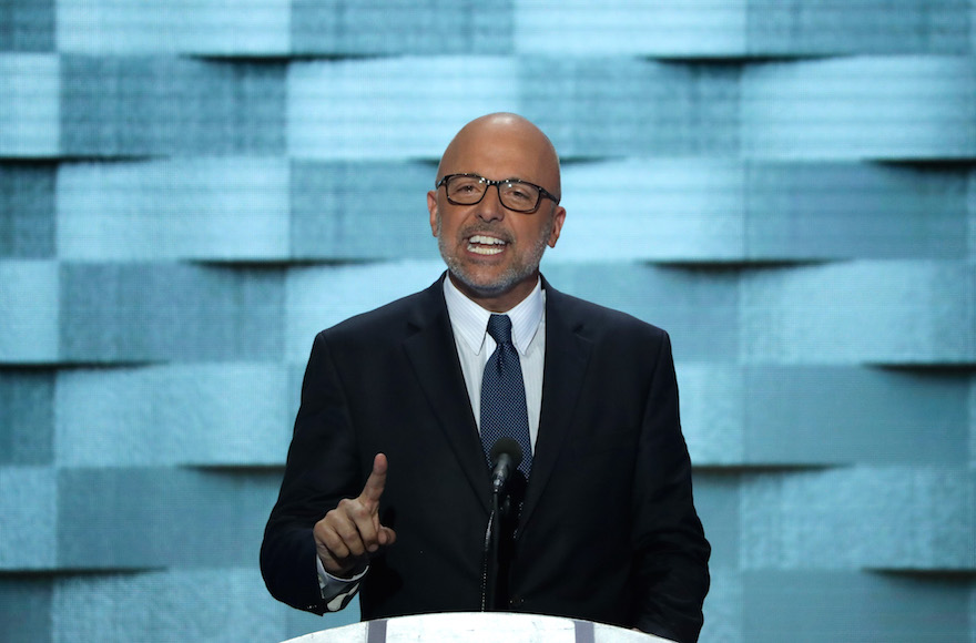
[{"label": "white shirt collar around the knot of the tie", "polygon": [[[488,318],[492,313],[458,290],[450,280],[450,275],[444,279],[444,299],[447,303],[447,314],[450,316],[450,325],[455,334],[471,348],[475,355],[479,355],[485,347]],[[521,355],[526,355],[529,344],[539,330],[545,309],[546,295],[542,293],[542,280],[537,279],[536,287],[529,296],[511,310],[504,313],[511,319],[511,343]]]}]

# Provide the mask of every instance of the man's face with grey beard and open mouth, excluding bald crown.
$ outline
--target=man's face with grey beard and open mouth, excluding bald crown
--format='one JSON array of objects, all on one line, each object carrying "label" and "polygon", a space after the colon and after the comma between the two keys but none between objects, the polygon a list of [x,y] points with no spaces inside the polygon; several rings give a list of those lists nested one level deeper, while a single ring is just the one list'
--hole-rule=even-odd
[{"label": "man's face with grey beard and open mouth, excluding bald crown", "polygon": [[[453,142],[438,180],[471,173],[490,180],[520,178],[558,194],[558,166],[548,149],[520,131],[476,131]],[[555,246],[566,211],[548,198],[531,214],[501,205],[489,187],[480,203],[455,205],[444,187],[427,195],[430,228],[440,256],[458,285],[475,300],[490,299],[499,310],[525,298],[536,285],[546,246]],[[482,302],[484,304],[484,302]]]}]

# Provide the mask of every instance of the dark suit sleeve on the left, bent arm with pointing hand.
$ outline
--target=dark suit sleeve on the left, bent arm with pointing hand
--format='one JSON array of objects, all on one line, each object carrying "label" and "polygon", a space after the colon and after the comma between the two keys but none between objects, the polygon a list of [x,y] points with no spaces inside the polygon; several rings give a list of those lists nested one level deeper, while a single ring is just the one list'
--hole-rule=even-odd
[{"label": "dark suit sleeve on the left, bent arm with pointing hand", "polygon": [[363,481],[345,392],[319,334],[305,369],[281,492],[261,545],[261,573],[275,599],[317,614],[335,609],[322,599],[312,530],[339,500],[354,498]]}]

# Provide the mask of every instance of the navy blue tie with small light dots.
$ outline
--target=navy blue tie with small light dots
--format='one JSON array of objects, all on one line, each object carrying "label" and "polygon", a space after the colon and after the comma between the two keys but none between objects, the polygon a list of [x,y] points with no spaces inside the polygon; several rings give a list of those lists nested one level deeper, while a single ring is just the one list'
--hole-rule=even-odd
[{"label": "navy blue tie with small light dots", "polygon": [[508,315],[492,315],[488,319],[488,335],[498,347],[481,380],[481,443],[491,465],[491,447],[499,438],[511,438],[522,448],[519,465],[526,479],[532,468],[532,442],[529,437],[529,411],[526,407],[526,385],[518,350],[511,343],[511,319]]}]

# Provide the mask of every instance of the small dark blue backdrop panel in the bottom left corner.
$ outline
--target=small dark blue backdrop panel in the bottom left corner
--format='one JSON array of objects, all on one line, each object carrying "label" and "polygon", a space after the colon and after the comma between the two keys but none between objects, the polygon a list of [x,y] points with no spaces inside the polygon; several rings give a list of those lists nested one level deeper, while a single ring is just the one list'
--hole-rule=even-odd
[{"label": "small dark blue backdrop panel in the bottom left corner", "polygon": [[4,643],[50,643],[50,576],[0,576],[0,641]]}]

